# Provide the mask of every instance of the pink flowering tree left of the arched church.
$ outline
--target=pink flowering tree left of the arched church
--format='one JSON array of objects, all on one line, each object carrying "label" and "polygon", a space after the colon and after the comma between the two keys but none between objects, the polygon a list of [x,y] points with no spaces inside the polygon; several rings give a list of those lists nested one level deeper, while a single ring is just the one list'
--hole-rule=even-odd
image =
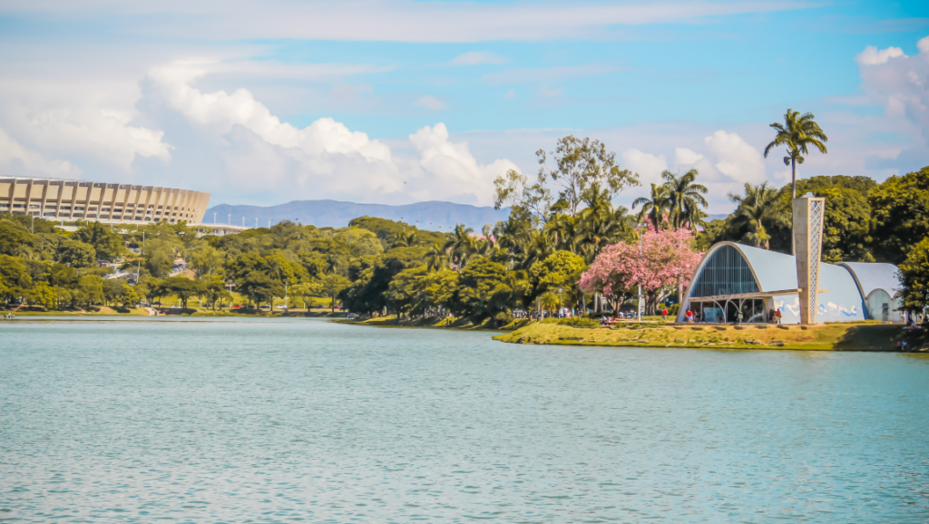
[{"label": "pink flowering tree left of the arched church", "polygon": [[649,226],[642,235],[641,255],[638,241],[608,245],[583,272],[578,286],[586,293],[602,293],[613,302],[622,302],[641,285],[647,296],[646,310],[653,314],[661,300],[675,291],[680,294],[690,283],[702,256],[688,229],[656,231]]}]

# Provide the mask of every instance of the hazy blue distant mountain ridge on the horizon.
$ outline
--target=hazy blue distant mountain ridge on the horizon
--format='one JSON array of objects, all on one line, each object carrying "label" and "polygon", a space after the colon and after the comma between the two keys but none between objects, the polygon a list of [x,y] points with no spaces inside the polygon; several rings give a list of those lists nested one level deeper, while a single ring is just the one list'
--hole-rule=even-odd
[{"label": "hazy blue distant mountain ridge on the horizon", "polygon": [[457,224],[465,224],[479,230],[484,224],[496,224],[498,220],[505,220],[510,215],[510,209],[506,207],[496,210],[492,207],[451,202],[384,205],[334,200],[297,200],[268,207],[221,203],[206,210],[203,223],[212,224],[214,213],[219,224],[228,223],[231,215],[230,221],[233,225],[241,226],[244,217],[245,225],[253,227],[257,218],[259,227],[268,227],[268,220],[272,225],[282,220],[292,220],[318,228],[344,228],[352,218],[376,216],[403,221],[419,229],[439,230],[441,227],[441,230],[448,230]]}]

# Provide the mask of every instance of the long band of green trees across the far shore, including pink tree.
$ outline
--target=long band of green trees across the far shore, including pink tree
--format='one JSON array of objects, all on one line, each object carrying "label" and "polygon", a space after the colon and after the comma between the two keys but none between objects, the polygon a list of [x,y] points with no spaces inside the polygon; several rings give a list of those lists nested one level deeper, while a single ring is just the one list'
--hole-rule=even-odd
[{"label": "long band of green trees across the far shore, including pink tree", "polygon": [[[361,314],[503,322],[520,309],[586,310],[595,295],[610,308],[635,308],[640,284],[654,311],[675,300],[713,242],[790,252],[789,184],[747,185],[730,195],[732,215],[707,224],[700,174],[665,173],[630,211],[612,201],[637,184],[634,173],[618,169],[598,142],[559,144],[552,167],[540,159],[538,177],[511,172],[497,180],[497,203],[513,212],[479,232],[362,216],[346,228],[282,222],[226,236],[165,223],[82,222],[69,233],[40,218],[3,215],[0,299],[52,309],[129,307],[172,295],[184,307],[192,298],[216,307],[231,300],[231,290],[254,307],[286,295],[291,307],[325,298]],[[867,177],[799,180],[797,193],[807,191],[827,199],[825,260],[896,263],[909,306],[922,308],[929,293],[929,168],[880,184]],[[180,258],[192,275],[177,271]],[[114,262],[121,278],[103,279],[113,269],[98,268],[99,260]]]}]

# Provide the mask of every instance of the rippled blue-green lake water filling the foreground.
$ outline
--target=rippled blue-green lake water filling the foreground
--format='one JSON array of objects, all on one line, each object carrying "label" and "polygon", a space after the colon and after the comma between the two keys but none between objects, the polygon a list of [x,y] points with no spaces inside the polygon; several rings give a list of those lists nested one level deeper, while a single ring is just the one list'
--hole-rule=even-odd
[{"label": "rippled blue-green lake water filling the foreground", "polygon": [[0,321],[0,520],[926,522],[929,360]]}]

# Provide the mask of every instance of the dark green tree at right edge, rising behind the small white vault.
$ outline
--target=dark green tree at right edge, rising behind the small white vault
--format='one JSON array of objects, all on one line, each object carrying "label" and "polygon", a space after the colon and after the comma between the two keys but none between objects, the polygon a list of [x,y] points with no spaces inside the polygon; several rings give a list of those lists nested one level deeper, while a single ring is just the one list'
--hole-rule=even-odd
[{"label": "dark green tree at right edge, rising behind the small white vault", "polygon": [[929,237],[929,166],[887,178],[871,190],[869,201],[878,260],[899,264],[912,246]]}]

